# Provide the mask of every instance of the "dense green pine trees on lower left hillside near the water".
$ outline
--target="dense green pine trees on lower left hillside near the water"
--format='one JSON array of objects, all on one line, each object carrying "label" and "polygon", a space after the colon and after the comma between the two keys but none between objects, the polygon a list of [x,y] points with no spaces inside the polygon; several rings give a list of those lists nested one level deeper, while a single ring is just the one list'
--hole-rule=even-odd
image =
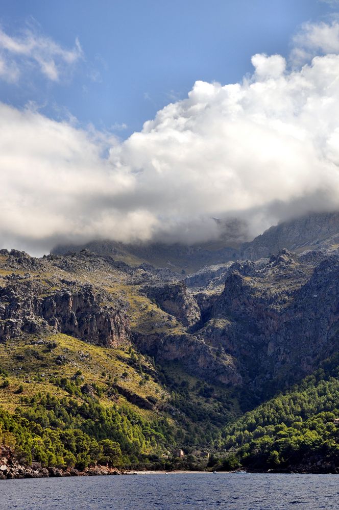
[{"label": "dense green pine trees on lower left hillside near the water", "polygon": [[14,415],[0,409],[0,440],[14,446],[28,463],[135,468],[147,463],[149,451],[160,453],[173,441],[165,419],[147,422],[127,406],[105,408],[89,397],[78,402],[50,394],[22,397],[22,404],[27,405],[17,407]]}]

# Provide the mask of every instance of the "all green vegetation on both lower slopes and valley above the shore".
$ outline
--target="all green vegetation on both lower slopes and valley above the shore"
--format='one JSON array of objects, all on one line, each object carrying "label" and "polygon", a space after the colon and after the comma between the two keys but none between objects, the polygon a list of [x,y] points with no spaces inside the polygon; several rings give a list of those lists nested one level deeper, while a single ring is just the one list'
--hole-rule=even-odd
[{"label": "all green vegetation on both lower slopes and valley above the shore", "polygon": [[[160,369],[131,346],[24,336],[0,345],[0,402],[0,442],[44,466],[284,470],[339,461],[339,354],[243,414],[250,392],[208,384],[179,363]],[[195,456],[197,445],[209,461]],[[176,446],[184,459],[173,457]]]}]

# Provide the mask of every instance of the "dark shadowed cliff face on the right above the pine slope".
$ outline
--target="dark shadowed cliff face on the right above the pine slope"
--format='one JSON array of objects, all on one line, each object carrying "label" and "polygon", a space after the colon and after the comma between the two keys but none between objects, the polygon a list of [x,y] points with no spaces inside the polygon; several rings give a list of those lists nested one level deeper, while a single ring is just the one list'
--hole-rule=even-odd
[{"label": "dark shadowed cliff face on the right above the pine slope", "polygon": [[249,267],[230,268],[223,292],[205,303],[199,333],[233,356],[259,391],[272,380],[284,387],[337,349],[339,259],[314,263],[281,250],[262,268]]}]

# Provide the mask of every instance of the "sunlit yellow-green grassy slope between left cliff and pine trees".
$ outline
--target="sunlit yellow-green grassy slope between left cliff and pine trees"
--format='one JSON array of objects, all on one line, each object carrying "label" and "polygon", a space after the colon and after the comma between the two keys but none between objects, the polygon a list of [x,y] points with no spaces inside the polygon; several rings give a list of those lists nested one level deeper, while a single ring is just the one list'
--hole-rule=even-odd
[{"label": "sunlit yellow-green grassy slope between left cliff and pine trees", "polygon": [[[47,349],[49,343],[56,344],[51,351]],[[66,358],[62,365],[56,364],[58,356]],[[0,344],[0,368],[9,374],[10,382],[8,388],[0,390],[0,404],[13,412],[22,395],[52,392],[60,397],[65,396],[67,393],[56,388],[50,379],[71,378],[78,370],[82,372],[82,385],[94,383],[104,390],[100,400],[106,405],[112,403],[107,391],[115,383],[143,398],[169,398],[159,384],[151,378],[145,380],[145,374],[130,364],[131,354],[127,351],[87,344],[67,335],[53,335],[44,341],[34,336],[16,338]],[[141,367],[147,371],[151,369],[151,364],[142,357]],[[123,376],[124,373],[128,375]],[[23,386],[23,392],[18,394],[16,391],[20,385]],[[125,397],[120,395],[118,398],[120,403],[126,403]],[[136,407],[134,404],[129,405]],[[138,411],[148,418],[154,415],[154,412],[148,410],[138,408]]]}]

